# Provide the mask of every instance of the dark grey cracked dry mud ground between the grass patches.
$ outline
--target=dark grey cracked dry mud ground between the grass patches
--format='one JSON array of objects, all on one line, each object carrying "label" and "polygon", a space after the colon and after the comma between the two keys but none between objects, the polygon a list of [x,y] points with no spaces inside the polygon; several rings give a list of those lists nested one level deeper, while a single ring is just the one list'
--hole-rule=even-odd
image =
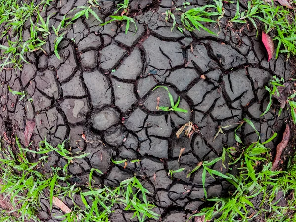
[{"label": "dark grey cracked dry mud ground between the grass patches", "polygon": [[[276,113],[271,111],[260,117],[268,100],[264,86],[273,75],[288,80],[291,68],[282,55],[267,62],[259,37],[246,28],[240,33],[235,28],[225,29],[222,22],[218,37],[204,31],[171,32],[172,24],[165,22],[163,13],[172,7],[172,1],[155,2],[131,1],[131,10],[138,12],[136,33],[131,26],[125,35],[124,23],[99,26],[92,15],[88,20],[79,18],[69,26],[60,44],[60,60],[54,55],[51,35],[43,47],[47,55],[42,51],[27,54],[31,64],[24,64],[18,73],[3,70],[0,126],[2,132],[17,135],[24,143],[26,122],[35,121],[32,148],[45,137],[53,145],[70,137],[72,150],[91,153],[69,166],[74,175],[72,183],[87,183],[91,168],[104,172],[103,176],[94,177],[97,185],[116,186],[135,173],[152,193],[148,199],[156,204],[155,211],[162,221],[184,222],[192,211],[207,206],[201,171],[186,178],[188,170],[199,161],[220,156],[223,146],[235,145],[234,123],[245,117],[254,122],[263,141],[278,130],[281,121]],[[173,6],[181,7],[183,2],[173,1]],[[43,15],[55,13],[50,26],[58,25],[65,13],[86,3],[87,0],[56,1]],[[115,2],[100,5],[100,11],[94,10],[104,20],[114,10]],[[233,8],[228,4],[225,9],[226,20],[235,10],[230,10]],[[157,97],[161,106],[170,106],[163,88],[152,91],[158,84],[168,86],[175,101],[180,96],[179,107],[188,113],[156,110]],[[27,91],[33,102],[19,101],[8,91],[8,85],[16,91]],[[285,117],[284,112],[280,118]],[[193,121],[200,132],[191,139],[177,139],[175,133],[188,121]],[[224,129],[225,135],[219,134],[213,141],[218,126],[231,124],[234,125]],[[245,144],[257,139],[248,125],[239,134]],[[273,148],[274,144],[269,143],[268,147]],[[178,162],[181,148],[185,150]],[[124,168],[123,164],[112,164],[111,158],[141,162]],[[52,155],[48,164],[63,166],[65,161]],[[182,167],[186,170],[174,174],[173,180],[167,176],[168,169]],[[224,168],[218,162],[214,169]],[[206,187],[208,197],[221,196],[229,184],[207,175]],[[78,197],[75,201],[81,203]],[[48,203],[44,202],[43,207],[46,209]],[[48,212],[47,208],[42,219],[57,221],[52,216],[59,215],[59,211],[54,209],[51,215]],[[132,215],[117,209],[110,221],[136,221],[129,219]]]}]

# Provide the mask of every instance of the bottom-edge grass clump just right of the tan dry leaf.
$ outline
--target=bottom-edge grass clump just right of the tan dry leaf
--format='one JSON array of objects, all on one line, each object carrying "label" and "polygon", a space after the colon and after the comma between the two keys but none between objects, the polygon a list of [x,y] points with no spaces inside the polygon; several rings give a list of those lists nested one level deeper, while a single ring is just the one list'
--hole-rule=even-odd
[{"label": "bottom-edge grass clump just right of the tan dry leaf", "polygon": [[[91,175],[89,180],[92,180]],[[137,217],[140,222],[144,222],[146,218],[157,219],[160,216],[152,211],[155,206],[146,198],[146,194],[150,192],[136,177],[122,181],[115,189],[107,186],[92,188],[89,185],[88,191],[82,192],[79,188],[79,193],[85,210],[73,202],[74,210],[57,218],[65,218],[63,222],[75,222],[76,219],[82,222],[105,222],[108,221],[108,216],[113,212],[112,207],[115,204],[123,205],[124,210],[133,211],[132,218]],[[139,194],[142,195],[143,200],[139,199]],[[91,204],[87,199],[91,200]]]}]

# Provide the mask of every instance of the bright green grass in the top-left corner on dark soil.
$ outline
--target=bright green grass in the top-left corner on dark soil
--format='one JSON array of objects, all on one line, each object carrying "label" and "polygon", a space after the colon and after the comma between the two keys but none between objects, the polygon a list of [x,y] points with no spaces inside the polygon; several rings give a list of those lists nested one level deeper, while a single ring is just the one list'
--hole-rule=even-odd
[{"label": "bright green grass in the top-left corner on dark soil", "polygon": [[[40,13],[50,5],[51,1],[44,0],[38,5],[33,0],[30,3],[23,3],[18,0],[0,1],[0,26],[4,27],[1,38],[7,38],[7,43],[0,45],[0,49],[2,50],[0,55],[0,60],[2,60],[0,71],[7,68],[21,69],[24,62],[28,63],[25,58],[25,53],[27,52],[42,50],[46,54],[42,47],[46,44],[48,36],[51,35],[49,20],[52,15],[49,15],[45,20]],[[72,18],[65,15],[57,28],[52,26],[52,30],[54,30],[57,36],[54,42],[54,52],[57,58],[60,59],[58,45],[67,33],[66,27],[72,24],[74,20],[82,16],[88,18],[90,13],[102,22],[91,9],[92,6],[81,6],[71,10],[69,13],[74,10],[79,11]],[[29,36],[24,36],[24,28],[27,21],[30,21]]]}]

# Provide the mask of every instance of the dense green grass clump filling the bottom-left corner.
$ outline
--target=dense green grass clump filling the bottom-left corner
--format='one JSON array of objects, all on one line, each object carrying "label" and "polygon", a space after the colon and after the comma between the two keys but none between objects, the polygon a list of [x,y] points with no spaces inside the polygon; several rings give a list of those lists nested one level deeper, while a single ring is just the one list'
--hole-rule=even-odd
[{"label": "dense green grass clump filling the bottom-left corner", "polygon": [[[18,153],[14,154],[10,147],[1,151],[1,193],[10,198],[10,202],[20,216],[20,220],[38,220],[36,214],[40,209],[40,199],[49,198],[52,207],[52,197],[56,193],[62,193],[63,188],[58,180],[65,181],[66,177],[58,176],[59,168],[52,169],[49,176],[45,176],[37,169],[42,161],[31,163],[26,157],[26,151],[22,148],[18,138],[15,138]],[[47,191],[49,196],[47,196]],[[18,205],[20,206],[18,208]],[[17,210],[18,209],[18,210]]]}]

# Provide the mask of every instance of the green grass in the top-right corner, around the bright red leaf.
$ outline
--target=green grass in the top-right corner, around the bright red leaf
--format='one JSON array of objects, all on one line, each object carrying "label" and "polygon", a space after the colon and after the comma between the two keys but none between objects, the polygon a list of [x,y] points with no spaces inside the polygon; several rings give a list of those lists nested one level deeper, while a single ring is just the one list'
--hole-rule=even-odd
[{"label": "green grass in the top-right corner, around the bright red leaf", "polygon": [[[180,8],[173,8],[166,11],[166,21],[170,18],[173,20],[173,27],[183,32],[185,29],[189,31],[205,30],[212,35],[217,33],[206,28],[205,23],[217,23],[224,16],[224,5],[226,2],[222,0],[213,0],[214,3],[207,4],[202,7],[194,7],[185,12],[180,13]],[[230,23],[246,24],[250,22],[257,31],[259,21],[262,24],[262,28],[266,33],[272,30],[276,31],[273,36],[273,40],[277,41],[276,56],[279,53],[287,53],[287,57],[290,55],[296,55],[296,15],[294,10],[287,10],[285,6],[276,6],[275,1],[264,0],[250,0],[247,1],[247,9],[240,10],[239,0],[236,1],[236,14],[233,18],[229,18]],[[227,3],[233,4],[233,1]],[[184,5],[187,6],[188,4]],[[289,5],[289,7],[291,7]],[[176,13],[174,13],[174,10]],[[181,24],[176,23],[176,16],[180,16]]]}]

